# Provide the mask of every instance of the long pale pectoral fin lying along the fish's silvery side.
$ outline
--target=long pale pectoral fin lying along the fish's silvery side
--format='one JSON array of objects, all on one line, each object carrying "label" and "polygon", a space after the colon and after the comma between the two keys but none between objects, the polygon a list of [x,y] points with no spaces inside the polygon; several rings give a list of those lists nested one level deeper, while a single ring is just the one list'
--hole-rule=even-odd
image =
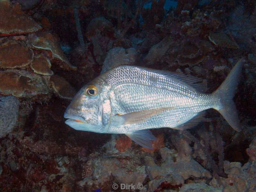
[{"label": "long pale pectoral fin lying along the fish's silvery side", "polygon": [[167,108],[156,108],[156,109],[145,109],[141,111],[135,111],[132,113],[126,113],[123,115],[115,115],[113,120],[117,125],[143,123],[153,115],[159,114],[164,110],[173,109],[172,107]]}]

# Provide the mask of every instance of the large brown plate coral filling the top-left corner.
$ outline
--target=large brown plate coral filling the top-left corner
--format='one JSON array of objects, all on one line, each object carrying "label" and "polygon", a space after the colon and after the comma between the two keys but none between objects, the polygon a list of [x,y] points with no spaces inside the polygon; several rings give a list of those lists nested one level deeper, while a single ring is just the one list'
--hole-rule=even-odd
[{"label": "large brown plate coral filling the top-left corner", "polygon": [[0,1],[0,36],[33,33],[41,29],[31,17],[20,10],[20,5],[11,6],[9,0]]}]

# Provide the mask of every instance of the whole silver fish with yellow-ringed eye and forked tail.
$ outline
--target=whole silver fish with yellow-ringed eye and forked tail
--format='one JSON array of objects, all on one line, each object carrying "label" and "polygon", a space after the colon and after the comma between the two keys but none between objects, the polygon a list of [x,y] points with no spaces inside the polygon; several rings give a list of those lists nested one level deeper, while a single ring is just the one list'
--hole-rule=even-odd
[{"label": "whole silver fish with yellow-ringed eye and forked tail", "polygon": [[233,101],[243,60],[220,87],[206,94],[200,78],[138,66],[119,66],[84,85],[68,105],[65,123],[75,130],[125,134],[153,149],[149,129],[184,130],[196,126],[205,110],[216,109],[237,132],[241,130]]}]

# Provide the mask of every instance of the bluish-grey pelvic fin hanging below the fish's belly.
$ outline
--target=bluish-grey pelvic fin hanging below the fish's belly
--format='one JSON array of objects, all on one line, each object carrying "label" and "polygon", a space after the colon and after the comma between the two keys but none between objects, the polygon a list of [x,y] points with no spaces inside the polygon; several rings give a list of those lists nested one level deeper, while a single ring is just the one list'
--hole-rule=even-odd
[{"label": "bluish-grey pelvic fin hanging below the fish's belly", "polygon": [[156,137],[149,130],[133,131],[126,133],[125,135],[140,146],[149,149],[153,149],[151,141],[156,140]]}]

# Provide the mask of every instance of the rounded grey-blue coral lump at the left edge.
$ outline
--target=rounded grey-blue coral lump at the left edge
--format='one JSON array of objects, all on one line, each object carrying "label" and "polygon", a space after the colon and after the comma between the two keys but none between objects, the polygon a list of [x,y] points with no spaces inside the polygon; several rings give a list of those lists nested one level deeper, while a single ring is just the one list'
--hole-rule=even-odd
[{"label": "rounded grey-blue coral lump at the left edge", "polygon": [[12,131],[19,116],[19,100],[14,96],[0,97],[0,138]]}]

